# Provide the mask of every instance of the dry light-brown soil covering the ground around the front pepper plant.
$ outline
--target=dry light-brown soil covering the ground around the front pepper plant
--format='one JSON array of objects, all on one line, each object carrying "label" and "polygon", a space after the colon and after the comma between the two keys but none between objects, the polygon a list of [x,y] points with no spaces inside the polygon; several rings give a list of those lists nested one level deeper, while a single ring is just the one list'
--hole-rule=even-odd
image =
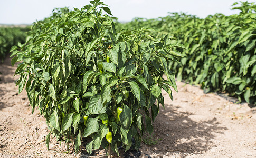
[{"label": "dry light-brown soil covering the ground around the front pepper plant", "polygon": [[[17,65],[12,67],[10,61],[0,64],[0,157],[80,157],[65,154],[64,143],[52,137],[46,150],[45,118],[38,110],[31,113],[26,92],[17,93]],[[165,109],[160,108],[154,134],[144,137],[140,157],[256,157],[256,108],[204,94],[183,82],[177,85],[174,101],[163,92]],[[90,157],[105,157],[105,150]]]}]

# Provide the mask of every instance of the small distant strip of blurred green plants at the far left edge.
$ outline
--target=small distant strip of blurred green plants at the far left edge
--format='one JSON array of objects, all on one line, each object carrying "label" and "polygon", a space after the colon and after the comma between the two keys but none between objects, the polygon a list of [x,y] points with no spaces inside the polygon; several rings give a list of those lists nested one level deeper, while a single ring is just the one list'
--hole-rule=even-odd
[{"label": "small distant strip of blurred green plants at the far left edge", "polygon": [[25,43],[27,31],[29,29],[26,27],[0,27],[0,62],[3,62],[13,45]]}]

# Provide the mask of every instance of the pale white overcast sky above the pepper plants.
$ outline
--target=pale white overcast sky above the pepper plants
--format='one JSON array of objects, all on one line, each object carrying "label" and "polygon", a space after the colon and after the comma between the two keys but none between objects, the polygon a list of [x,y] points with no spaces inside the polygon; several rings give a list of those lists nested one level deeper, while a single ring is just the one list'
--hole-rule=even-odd
[{"label": "pale white overcast sky above the pepper plants", "polygon": [[[129,22],[135,17],[165,17],[168,12],[183,12],[205,18],[222,13],[238,14],[231,10],[235,0],[101,0],[109,5],[119,22]],[[240,0],[241,1],[241,0]],[[242,0],[242,2],[245,2]],[[248,2],[255,2],[249,0]],[[54,8],[81,9],[89,0],[0,0],[0,24],[32,24],[49,17]]]}]

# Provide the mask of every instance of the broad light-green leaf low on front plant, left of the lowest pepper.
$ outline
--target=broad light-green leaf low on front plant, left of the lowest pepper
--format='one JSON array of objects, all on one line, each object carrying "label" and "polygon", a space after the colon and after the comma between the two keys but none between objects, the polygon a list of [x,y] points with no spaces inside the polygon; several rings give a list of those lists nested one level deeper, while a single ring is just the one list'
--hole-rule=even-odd
[{"label": "broad light-green leaf low on front plant, left of the lowest pepper", "polygon": [[99,123],[98,123],[99,117],[96,118],[89,118],[87,120],[87,126],[86,129],[84,129],[84,135],[83,137],[88,137],[94,132],[97,132],[99,129]]}]

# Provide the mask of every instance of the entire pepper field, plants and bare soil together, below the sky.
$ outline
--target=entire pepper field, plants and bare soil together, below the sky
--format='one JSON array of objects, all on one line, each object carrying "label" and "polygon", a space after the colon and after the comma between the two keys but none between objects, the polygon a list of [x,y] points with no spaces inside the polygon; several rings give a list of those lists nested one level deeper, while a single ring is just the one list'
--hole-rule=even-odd
[{"label": "entire pepper field, plants and bare soil together, below the sky", "polygon": [[233,9],[121,24],[94,0],[56,8],[27,33],[0,28],[0,59],[12,53],[0,65],[0,157],[256,156],[256,5]]}]

